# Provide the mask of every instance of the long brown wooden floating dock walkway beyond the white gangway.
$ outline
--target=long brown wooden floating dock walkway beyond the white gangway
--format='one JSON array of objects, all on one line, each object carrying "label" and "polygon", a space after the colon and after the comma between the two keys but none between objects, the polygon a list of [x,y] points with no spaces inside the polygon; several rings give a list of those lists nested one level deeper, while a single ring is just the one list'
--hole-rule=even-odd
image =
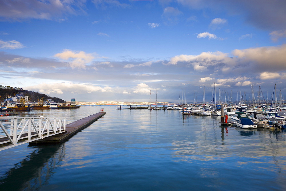
[{"label": "long brown wooden floating dock walkway beyond the white gangway", "polygon": [[80,120],[77,120],[75,122],[72,122],[70,124],[67,124],[65,126],[65,132],[56,134],[53,136],[46,137],[44,139],[40,139],[37,141],[29,142],[29,145],[51,145],[51,144],[59,144],[70,137],[74,136],[77,132],[80,130],[86,128],[90,124],[92,124],[94,121],[98,120],[102,116],[104,116],[106,112],[99,112],[96,114],[93,114],[91,116],[82,118]]}]

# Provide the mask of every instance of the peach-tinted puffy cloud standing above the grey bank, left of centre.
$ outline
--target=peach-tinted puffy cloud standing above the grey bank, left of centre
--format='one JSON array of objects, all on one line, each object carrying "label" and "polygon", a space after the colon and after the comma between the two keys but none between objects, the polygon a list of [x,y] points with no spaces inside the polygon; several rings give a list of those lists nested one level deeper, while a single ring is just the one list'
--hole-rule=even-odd
[{"label": "peach-tinted puffy cloud standing above the grey bank, left of centre", "polygon": [[68,61],[72,68],[85,68],[86,64],[94,59],[92,54],[85,53],[84,51],[76,52],[68,49],[63,50],[63,52],[57,53],[54,56]]}]

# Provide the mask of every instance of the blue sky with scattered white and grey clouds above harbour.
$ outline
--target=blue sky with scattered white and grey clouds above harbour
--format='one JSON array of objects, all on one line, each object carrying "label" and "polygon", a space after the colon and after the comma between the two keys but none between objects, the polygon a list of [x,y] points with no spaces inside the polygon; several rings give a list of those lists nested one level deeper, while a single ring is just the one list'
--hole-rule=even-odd
[{"label": "blue sky with scattered white and grey clouds above harbour", "polygon": [[286,1],[0,0],[0,66],[66,101],[278,99]]}]

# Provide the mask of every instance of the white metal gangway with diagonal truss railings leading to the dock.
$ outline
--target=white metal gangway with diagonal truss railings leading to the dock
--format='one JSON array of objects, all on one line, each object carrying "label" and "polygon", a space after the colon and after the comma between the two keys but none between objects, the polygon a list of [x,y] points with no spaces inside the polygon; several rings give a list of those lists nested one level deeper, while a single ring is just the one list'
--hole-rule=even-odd
[{"label": "white metal gangway with diagonal truss railings leading to the dock", "polygon": [[65,132],[65,118],[0,117],[0,151]]}]

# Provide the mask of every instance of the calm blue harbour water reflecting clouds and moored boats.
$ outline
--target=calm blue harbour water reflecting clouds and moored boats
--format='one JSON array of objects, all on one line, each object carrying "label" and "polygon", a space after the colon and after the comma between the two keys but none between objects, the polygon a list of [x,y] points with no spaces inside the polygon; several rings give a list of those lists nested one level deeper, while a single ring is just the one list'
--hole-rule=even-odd
[{"label": "calm blue harbour water reflecting clouds and moored boats", "polygon": [[[33,110],[66,117],[103,106]],[[116,110],[60,145],[0,151],[0,190],[286,190],[286,130],[222,128],[220,116]]]}]

